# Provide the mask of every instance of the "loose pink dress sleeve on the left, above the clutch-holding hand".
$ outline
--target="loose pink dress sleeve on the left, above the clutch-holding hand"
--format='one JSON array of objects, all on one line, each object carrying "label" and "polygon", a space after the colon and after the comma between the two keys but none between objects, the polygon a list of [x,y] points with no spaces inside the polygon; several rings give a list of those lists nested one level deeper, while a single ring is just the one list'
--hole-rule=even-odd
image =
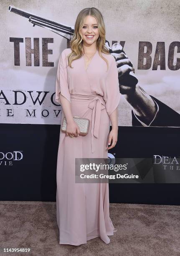
[{"label": "loose pink dress sleeve on the left, above the clutch-holding hand", "polygon": [[66,54],[64,50],[61,53],[61,56],[58,61],[58,69],[56,74],[56,97],[55,100],[59,104],[60,97],[59,94],[63,95],[70,103],[71,103],[71,95],[68,88],[68,82],[67,82],[67,64],[66,64]]}]

